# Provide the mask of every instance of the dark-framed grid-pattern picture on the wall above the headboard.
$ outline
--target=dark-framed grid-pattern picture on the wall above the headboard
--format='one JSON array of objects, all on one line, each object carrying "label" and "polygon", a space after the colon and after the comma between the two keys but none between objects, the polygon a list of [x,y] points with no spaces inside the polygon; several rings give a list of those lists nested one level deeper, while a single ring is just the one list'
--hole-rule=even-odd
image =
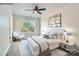
[{"label": "dark-framed grid-pattern picture on the wall above the headboard", "polygon": [[61,13],[48,18],[48,27],[49,28],[61,27]]}]

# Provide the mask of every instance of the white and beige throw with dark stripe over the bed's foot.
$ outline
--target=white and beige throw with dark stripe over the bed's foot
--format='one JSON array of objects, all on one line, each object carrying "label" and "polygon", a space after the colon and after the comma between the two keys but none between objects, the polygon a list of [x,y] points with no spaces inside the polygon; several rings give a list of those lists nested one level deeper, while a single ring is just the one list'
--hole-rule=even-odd
[{"label": "white and beige throw with dark stripe over the bed's foot", "polygon": [[39,36],[32,36],[27,39],[28,46],[32,52],[32,55],[39,55],[41,52],[48,49],[48,43]]}]

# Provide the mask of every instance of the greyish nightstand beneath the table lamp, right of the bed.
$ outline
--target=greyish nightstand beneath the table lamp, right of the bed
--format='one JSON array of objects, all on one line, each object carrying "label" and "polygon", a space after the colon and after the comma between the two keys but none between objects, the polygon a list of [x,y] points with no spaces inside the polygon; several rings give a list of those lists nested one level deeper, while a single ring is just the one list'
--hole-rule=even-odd
[{"label": "greyish nightstand beneath the table lamp, right of the bed", "polygon": [[72,54],[77,53],[74,43],[63,41],[63,42],[60,43],[60,48],[64,49],[65,51],[68,51]]}]

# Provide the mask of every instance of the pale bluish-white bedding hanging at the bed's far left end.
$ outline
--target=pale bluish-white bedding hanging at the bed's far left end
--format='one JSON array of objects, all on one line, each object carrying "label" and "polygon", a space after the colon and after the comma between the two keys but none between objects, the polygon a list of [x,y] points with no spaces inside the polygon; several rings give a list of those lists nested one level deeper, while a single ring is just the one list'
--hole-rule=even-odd
[{"label": "pale bluish-white bedding hanging at the bed's far left end", "polygon": [[27,45],[28,45],[27,40],[22,40],[20,42],[19,51],[20,51],[21,56],[31,56],[32,55]]}]

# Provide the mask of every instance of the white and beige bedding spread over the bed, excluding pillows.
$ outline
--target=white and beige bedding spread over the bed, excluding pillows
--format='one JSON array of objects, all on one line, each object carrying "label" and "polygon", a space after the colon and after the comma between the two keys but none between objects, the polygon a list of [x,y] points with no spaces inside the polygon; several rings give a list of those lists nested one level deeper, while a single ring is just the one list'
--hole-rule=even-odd
[{"label": "white and beige bedding spread over the bed, excluding pillows", "polygon": [[[29,46],[31,53],[34,56],[37,56],[40,53],[40,46],[34,40],[37,41],[40,44],[41,52],[45,51],[48,48],[49,48],[49,50],[53,50],[55,48],[58,48],[59,44],[61,42],[60,40],[45,39],[45,38],[42,38],[40,36],[32,36],[32,38],[29,37],[27,39],[27,45]],[[23,44],[25,44],[25,43],[26,42],[23,42]],[[22,47],[22,48],[25,48],[25,47]]]}]

